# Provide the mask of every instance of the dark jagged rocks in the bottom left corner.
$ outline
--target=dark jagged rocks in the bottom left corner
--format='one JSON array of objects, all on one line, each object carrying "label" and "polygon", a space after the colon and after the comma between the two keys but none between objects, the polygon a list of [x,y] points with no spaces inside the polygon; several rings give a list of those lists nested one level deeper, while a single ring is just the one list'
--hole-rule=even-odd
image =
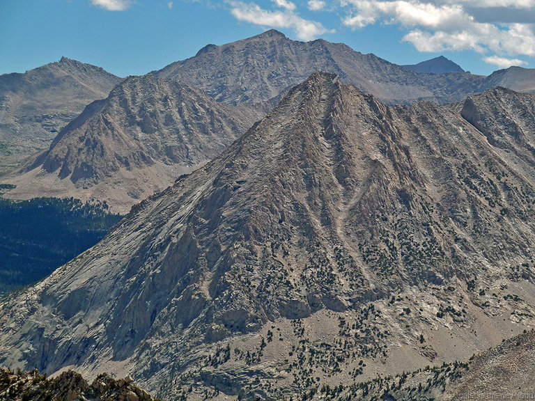
[{"label": "dark jagged rocks in the bottom left corner", "polygon": [[0,400],[88,400],[88,401],[155,401],[144,388],[125,379],[118,381],[103,373],[89,385],[82,375],[72,370],[52,379],[31,372],[0,369]]}]

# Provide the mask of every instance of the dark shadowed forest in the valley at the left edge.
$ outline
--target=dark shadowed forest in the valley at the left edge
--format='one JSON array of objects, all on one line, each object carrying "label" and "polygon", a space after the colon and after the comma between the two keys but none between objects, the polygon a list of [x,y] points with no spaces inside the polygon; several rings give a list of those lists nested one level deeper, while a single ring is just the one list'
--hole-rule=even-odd
[{"label": "dark shadowed forest in the valley at the left edge", "polygon": [[121,221],[105,203],[0,198],[0,294],[31,284],[96,244]]}]

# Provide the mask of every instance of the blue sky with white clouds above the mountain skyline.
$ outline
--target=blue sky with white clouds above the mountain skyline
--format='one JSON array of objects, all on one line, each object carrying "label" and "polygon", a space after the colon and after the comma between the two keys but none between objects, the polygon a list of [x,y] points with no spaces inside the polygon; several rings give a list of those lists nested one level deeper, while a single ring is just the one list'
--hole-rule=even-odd
[{"label": "blue sky with white clouds above the mountain skyline", "polygon": [[443,54],[475,74],[535,67],[535,0],[0,0],[0,74],[61,56],[145,74],[270,28],[398,64]]}]

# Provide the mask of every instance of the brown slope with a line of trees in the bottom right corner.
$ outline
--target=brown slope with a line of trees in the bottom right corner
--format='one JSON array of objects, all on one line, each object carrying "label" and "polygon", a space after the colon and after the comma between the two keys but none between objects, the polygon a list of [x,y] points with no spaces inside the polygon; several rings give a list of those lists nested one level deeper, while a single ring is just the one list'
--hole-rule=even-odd
[{"label": "brown slope with a line of trees in the bottom right corner", "polygon": [[[329,400],[450,401],[492,398],[529,399],[533,383],[533,343],[530,330],[504,340],[466,362],[455,361],[367,382],[322,386],[317,393]],[[302,397],[304,394],[296,394]],[[309,394],[306,394],[309,398]]]}]

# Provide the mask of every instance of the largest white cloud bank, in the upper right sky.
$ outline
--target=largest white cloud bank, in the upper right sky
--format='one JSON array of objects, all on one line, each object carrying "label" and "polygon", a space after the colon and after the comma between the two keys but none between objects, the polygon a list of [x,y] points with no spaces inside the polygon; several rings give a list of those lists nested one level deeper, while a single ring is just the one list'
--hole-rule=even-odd
[{"label": "largest white cloud bank, in the upper right sky", "polygon": [[[476,7],[516,8],[516,15],[533,12],[535,0],[340,0],[346,10],[343,24],[352,29],[382,23],[398,24],[408,29],[403,41],[410,42],[419,52],[473,50],[490,52],[496,57],[535,56],[535,34],[531,24],[481,22],[468,10]],[[511,9],[512,10],[512,9]],[[505,59],[505,58],[504,58]],[[516,60],[516,59],[515,59]]]}]

